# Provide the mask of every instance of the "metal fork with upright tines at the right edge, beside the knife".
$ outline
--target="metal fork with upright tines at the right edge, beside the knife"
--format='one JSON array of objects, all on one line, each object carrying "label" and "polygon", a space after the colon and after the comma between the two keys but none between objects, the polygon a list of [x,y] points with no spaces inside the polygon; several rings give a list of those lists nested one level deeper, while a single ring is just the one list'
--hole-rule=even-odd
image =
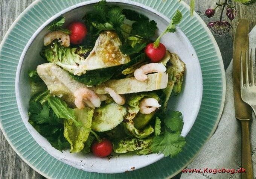
[{"label": "metal fork with upright tines at the right edge, beside the knife", "polygon": [[[242,100],[251,106],[253,109],[254,115],[256,116],[256,85],[254,83],[254,74],[253,74],[253,59],[252,59],[252,49],[250,54],[250,60],[248,63],[248,51],[245,52],[245,85],[243,82],[243,53],[241,52],[241,98]],[[255,49],[255,62],[256,62],[256,49]],[[248,73],[250,71],[250,74]],[[250,82],[249,83],[249,76]]]}]

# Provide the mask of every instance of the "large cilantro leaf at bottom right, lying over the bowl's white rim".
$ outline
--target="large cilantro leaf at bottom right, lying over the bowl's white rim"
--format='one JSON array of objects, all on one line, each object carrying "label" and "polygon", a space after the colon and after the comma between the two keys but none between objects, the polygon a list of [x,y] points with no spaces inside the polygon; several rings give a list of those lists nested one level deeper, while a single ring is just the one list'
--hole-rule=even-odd
[{"label": "large cilantro leaf at bottom right, lying over the bowl's white rim", "polygon": [[185,138],[180,136],[180,132],[172,133],[165,130],[163,134],[153,138],[151,150],[155,153],[162,152],[164,156],[174,157],[181,152],[185,144]]}]

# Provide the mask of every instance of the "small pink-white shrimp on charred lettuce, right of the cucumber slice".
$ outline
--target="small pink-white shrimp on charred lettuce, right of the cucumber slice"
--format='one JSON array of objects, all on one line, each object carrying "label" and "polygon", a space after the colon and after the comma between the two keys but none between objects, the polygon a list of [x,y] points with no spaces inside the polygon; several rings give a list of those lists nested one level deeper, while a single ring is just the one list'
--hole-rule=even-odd
[{"label": "small pink-white shrimp on charred lettuce, right of the cucumber slice", "polygon": [[150,114],[151,112],[154,112],[160,106],[161,105],[159,105],[159,103],[156,99],[154,99],[154,98],[145,98],[139,104],[140,113]]}]

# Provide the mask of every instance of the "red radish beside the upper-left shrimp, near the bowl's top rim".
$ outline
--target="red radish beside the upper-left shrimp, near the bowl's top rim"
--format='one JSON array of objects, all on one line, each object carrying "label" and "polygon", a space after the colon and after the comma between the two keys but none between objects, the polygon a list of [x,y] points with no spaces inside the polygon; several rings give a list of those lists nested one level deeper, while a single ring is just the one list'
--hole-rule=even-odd
[{"label": "red radish beside the upper-left shrimp, near the bowl's top rim", "polygon": [[81,22],[73,22],[68,29],[71,31],[70,42],[75,45],[81,44],[87,35],[86,26]]}]

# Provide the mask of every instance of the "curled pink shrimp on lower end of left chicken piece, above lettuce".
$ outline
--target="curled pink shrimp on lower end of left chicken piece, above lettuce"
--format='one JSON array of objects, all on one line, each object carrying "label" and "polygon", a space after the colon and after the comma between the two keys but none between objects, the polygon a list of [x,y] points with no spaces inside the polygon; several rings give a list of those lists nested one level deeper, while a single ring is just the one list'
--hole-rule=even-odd
[{"label": "curled pink shrimp on lower end of left chicken piece, above lettuce", "polygon": [[95,108],[101,105],[101,100],[94,93],[94,91],[89,90],[88,88],[78,88],[74,92],[75,96],[75,105],[78,109],[84,108],[84,103],[89,107]]}]

